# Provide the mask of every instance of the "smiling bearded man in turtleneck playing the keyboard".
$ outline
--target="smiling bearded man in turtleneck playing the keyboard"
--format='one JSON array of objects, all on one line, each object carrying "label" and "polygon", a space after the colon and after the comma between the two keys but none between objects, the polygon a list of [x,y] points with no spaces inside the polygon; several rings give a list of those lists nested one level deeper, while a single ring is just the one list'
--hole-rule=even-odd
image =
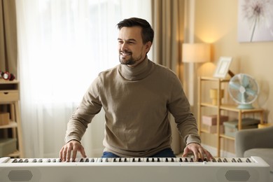
[{"label": "smiling bearded man in turtleneck playing the keyboard", "polygon": [[172,113],[187,144],[183,156],[193,152],[196,159],[211,159],[200,145],[196,120],[179,78],[147,57],[154,36],[151,25],[140,18],[129,18],[119,22],[118,29],[120,64],[99,73],[90,85],[69,120],[60,158],[74,160],[78,151],[86,158],[80,139],[103,108],[102,158],[175,158],[168,117]]}]

